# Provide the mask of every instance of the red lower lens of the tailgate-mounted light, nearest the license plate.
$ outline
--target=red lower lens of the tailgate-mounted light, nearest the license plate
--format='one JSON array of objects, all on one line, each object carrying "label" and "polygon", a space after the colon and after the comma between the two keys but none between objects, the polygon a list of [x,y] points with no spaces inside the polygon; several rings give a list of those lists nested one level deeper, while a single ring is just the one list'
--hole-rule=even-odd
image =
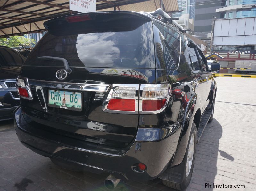
[{"label": "red lower lens of the tailgate-mounted light, nearest the license plate", "polygon": [[135,111],[135,99],[110,99],[107,109],[118,111]]}]

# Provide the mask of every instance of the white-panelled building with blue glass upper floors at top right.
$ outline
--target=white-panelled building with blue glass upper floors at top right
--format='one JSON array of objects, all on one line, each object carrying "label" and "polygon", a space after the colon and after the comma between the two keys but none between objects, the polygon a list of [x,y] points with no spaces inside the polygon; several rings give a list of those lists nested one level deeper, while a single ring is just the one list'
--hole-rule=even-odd
[{"label": "white-panelled building with blue glass upper floors at top right", "polygon": [[214,22],[213,51],[256,50],[256,0],[229,0],[216,13],[221,19]]}]

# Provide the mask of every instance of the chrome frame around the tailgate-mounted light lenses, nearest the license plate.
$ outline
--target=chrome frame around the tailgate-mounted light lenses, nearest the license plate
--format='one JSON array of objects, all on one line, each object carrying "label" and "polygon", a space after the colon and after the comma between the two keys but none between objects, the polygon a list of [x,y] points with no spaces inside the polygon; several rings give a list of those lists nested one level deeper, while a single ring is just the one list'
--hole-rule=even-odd
[{"label": "chrome frame around the tailgate-mounted light lenses, nearest the license plate", "polygon": [[[111,94],[112,94],[112,92],[114,91],[114,89],[116,87],[135,87],[135,91],[136,91],[135,97],[134,98],[112,97]],[[138,105],[139,105],[138,94],[139,94],[139,84],[113,84],[110,87],[110,91],[108,93],[108,97],[103,101],[102,110],[103,110],[103,112],[108,112],[108,113],[139,114],[139,112],[138,112]],[[116,99],[135,99],[135,111],[119,111],[119,110],[109,110],[109,109],[107,109],[109,100],[111,98],[114,98],[114,99],[115,98]]]}]

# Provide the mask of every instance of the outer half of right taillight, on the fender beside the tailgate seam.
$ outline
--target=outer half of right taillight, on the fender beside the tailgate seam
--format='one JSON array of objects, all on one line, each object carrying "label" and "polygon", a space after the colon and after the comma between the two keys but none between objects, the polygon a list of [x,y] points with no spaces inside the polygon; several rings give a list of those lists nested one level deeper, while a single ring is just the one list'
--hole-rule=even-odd
[{"label": "outer half of right taillight, on the fender beside the tailgate seam", "polygon": [[171,94],[170,84],[140,86],[140,114],[156,114],[163,111]]}]

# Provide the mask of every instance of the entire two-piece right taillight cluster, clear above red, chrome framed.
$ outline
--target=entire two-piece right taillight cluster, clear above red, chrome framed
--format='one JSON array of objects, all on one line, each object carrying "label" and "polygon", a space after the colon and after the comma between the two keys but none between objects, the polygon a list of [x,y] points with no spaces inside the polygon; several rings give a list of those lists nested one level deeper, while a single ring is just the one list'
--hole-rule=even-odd
[{"label": "entire two-piece right taillight cluster, clear above red, chrome framed", "polygon": [[142,84],[140,88],[139,84],[113,84],[102,109],[111,113],[160,113],[167,106],[170,89],[170,84]]}]

